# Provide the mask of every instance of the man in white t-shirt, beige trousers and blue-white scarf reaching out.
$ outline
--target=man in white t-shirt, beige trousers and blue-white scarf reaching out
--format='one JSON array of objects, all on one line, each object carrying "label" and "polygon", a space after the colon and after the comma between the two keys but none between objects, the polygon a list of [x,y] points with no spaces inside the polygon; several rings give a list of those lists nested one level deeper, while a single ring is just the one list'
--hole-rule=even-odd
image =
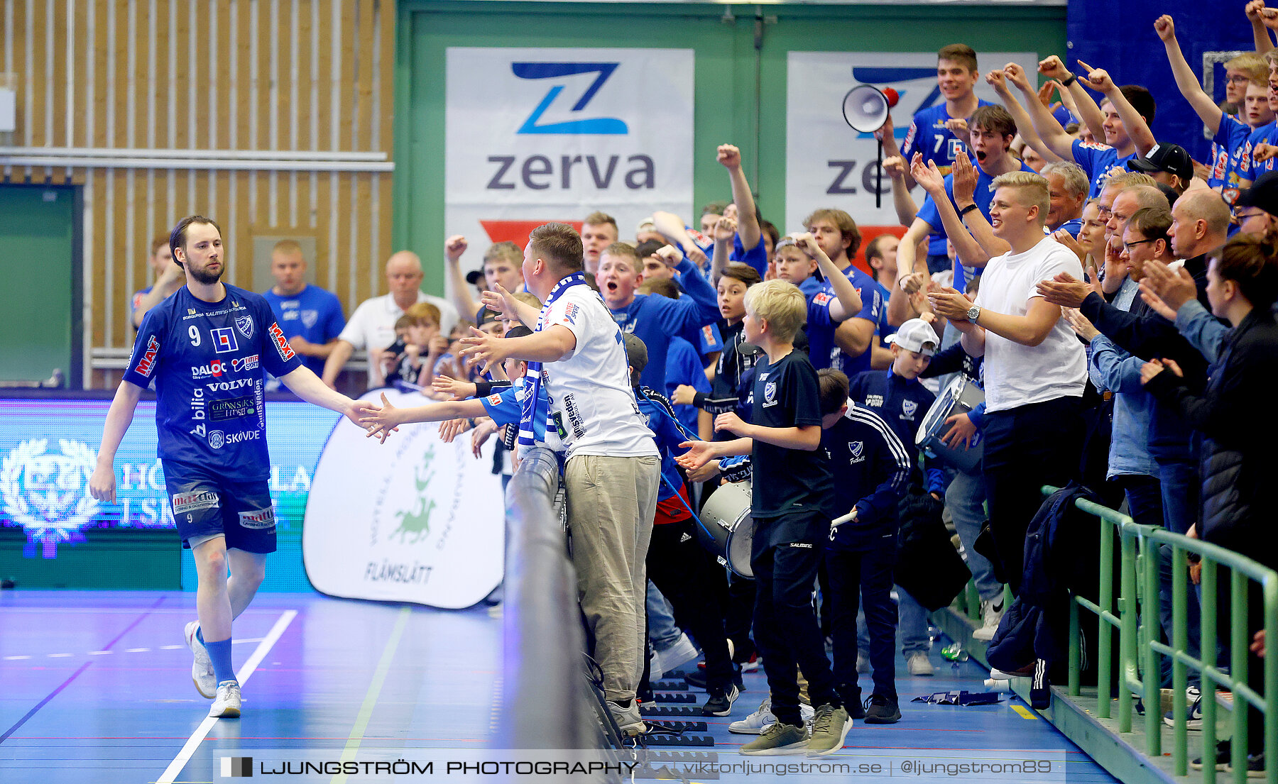
[{"label": "man in white t-shirt, beige trousers and blue-white scarf reaching out", "polygon": [[[581,237],[566,223],[533,230],[524,281],[541,312],[497,286],[484,305],[516,317],[533,335],[498,338],[470,331],[463,355],[486,365],[506,358],[530,363],[529,382],[544,384],[550,420],[564,442],[564,486],[581,612],[594,633],[603,691],[622,732],[645,730],[635,702],[644,664],[644,559],[657,513],[661,458],[640,419],[621,331],[597,291],[585,285]],[[537,400],[535,387],[527,396]],[[520,429],[544,418],[525,405]],[[527,425],[527,426],[525,426]]]}]

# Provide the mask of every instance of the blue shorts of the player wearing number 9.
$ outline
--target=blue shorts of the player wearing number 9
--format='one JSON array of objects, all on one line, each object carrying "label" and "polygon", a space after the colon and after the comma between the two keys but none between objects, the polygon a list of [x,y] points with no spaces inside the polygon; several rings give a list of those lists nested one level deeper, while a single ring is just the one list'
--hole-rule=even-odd
[{"label": "blue shorts of the player wearing number 9", "polygon": [[164,461],[164,480],[181,547],[225,535],[226,549],[275,552],[275,507],[265,479],[234,481],[199,466]]}]

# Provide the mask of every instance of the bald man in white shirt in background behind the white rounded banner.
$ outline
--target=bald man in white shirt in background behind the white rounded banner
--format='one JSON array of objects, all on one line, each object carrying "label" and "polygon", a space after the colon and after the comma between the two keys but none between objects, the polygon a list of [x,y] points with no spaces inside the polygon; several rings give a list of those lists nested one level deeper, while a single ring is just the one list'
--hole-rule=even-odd
[{"label": "bald man in white shirt in background behind the white rounded banner", "polygon": [[355,308],[337,336],[323,365],[323,383],[332,387],[337,374],[355,349],[368,350],[368,388],[382,386],[382,355],[395,342],[395,322],[417,303],[440,309],[440,333],[447,335],[458,323],[458,309],[446,299],[422,291],[422,259],[412,250],[400,250],[386,259],[386,286],[390,294],[369,298]]}]

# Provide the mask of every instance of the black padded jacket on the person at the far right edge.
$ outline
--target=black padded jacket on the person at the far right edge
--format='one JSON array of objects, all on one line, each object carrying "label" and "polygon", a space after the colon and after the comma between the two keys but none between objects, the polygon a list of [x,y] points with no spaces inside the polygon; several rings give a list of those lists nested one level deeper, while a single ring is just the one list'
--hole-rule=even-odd
[{"label": "black padded jacket on the person at the far right edge", "polygon": [[1278,323],[1258,308],[1222,341],[1206,388],[1194,393],[1171,372],[1148,384],[1151,395],[1174,407],[1206,441],[1200,455],[1204,541],[1278,566],[1278,536],[1270,502],[1278,455],[1278,409],[1269,400],[1278,388]]}]

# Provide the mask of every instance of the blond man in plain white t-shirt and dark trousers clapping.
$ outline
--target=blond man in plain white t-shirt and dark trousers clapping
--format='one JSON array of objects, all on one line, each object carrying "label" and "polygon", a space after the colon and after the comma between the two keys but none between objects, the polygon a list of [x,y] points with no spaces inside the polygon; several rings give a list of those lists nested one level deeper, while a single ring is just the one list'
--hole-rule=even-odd
[{"label": "blond man in plain white t-shirt and dark trousers clapping", "polygon": [[993,186],[990,225],[1012,249],[989,260],[975,303],[953,289],[928,299],[962,333],[964,349],[985,358],[989,529],[1003,575],[1019,592],[1025,530],[1043,501],[1039,489],[1065,485],[1079,472],[1088,373],[1082,343],[1036,285],[1061,272],[1081,280],[1082,266],[1043,234],[1049,195],[1042,175],[1008,172]]}]

